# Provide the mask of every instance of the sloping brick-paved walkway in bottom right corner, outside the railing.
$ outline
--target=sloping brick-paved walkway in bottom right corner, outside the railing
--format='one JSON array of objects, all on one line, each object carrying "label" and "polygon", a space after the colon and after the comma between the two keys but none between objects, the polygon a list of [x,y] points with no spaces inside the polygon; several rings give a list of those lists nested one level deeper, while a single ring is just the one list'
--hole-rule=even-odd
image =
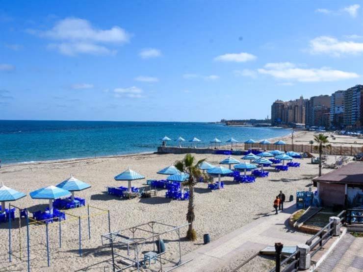
[{"label": "sloping brick-paved walkway in bottom right corner, outside the railing", "polygon": [[361,272],[363,271],[363,238],[345,234],[317,272]]}]

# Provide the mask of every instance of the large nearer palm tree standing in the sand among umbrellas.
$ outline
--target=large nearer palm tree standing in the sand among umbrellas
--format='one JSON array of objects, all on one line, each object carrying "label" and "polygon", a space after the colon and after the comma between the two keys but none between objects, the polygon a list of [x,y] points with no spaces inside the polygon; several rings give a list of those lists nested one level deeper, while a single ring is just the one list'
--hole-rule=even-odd
[{"label": "large nearer palm tree standing in the sand among umbrellas", "polygon": [[194,186],[198,183],[198,181],[203,178],[204,182],[211,181],[211,177],[206,173],[203,173],[199,169],[199,165],[204,162],[206,159],[198,161],[194,164],[194,156],[191,154],[186,154],[185,157],[175,162],[174,166],[181,172],[189,174],[189,178],[183,182],[184,186],[189,187],[189,202],[188,202],[188,212],[186,213],[186,220],[188,221],[189,227],[186,233],[186,238],[189,241],[195,241],[197,239],[197,233],[193,229],[193,221],[195,218],[194,215]]}]

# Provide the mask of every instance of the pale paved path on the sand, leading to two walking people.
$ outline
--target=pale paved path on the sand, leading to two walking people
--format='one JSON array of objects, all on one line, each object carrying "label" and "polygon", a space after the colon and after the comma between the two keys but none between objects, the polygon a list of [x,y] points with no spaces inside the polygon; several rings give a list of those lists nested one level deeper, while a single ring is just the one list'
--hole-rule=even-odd
[{"label": "pale paved path on the sand, leading to two walking people", "polygon": [[295,232],[286,226],[288,218],[296,210],[295,202],[285,202],[284,212],[263,214],[259,219],[184,255],[183,260],[193,260],[175,271],[217,271],[239,255],[251,252],[251,249],[259,251],[274,246],[275,242],[285,246],[305,244],[311,235]]}]

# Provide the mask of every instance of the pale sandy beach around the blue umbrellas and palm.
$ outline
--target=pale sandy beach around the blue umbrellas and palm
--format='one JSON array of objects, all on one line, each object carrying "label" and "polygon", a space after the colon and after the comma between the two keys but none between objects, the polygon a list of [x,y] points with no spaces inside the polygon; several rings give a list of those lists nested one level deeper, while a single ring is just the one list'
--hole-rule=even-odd
[{"label": "pale sandy beach around the blue umbrellas and palm", "polygon": [[[296,141],[312,138],[311,132],[296,132]],[[288,137],[285,137],[288,141]],[[309,141],[308,140],[308,141]],[[164,219],[165,223],[181,225],[186,223],[185,214],[187,201],[170,200],[165,198],[166,190],[157,192],[152,198],[119,199],[105,194],[105,186],[126,186],[127,182],[117,182],[113,177],[123,172],[129,166],[132,170],[146,176],[146,179],[164,179],[165,176],[156,174],[160,169],[173,164],[184,155],[175,154],[139,154],[109,158],[92,158],[75,161],[43,162],[23,165],[9,165],[1,169],[1,181],[5,185],[18,191],[29,192],[44,186],[56,185],[71,174],[92,185],[88,190],[79,192],[78,196],[85,198],[86,203],[105,210],[110,210],[111,231],[116,231],[145,223]],[[225,158],[224,155],[196,154],[196,159],[207,158],[211,164],[218,165]],[[237,157],[236,157],[237,158]],[[239,158],[237,158],[239,159]],[[310,164],[310,159],[299,159],[300,168],[291,168],[288,172],[274,172],[269,177],[258,178],[255,183],[238,184],[233,178],[223,178],[223,190],[210,191],[207,185],[200,183],[195,188],[195,229],[198,233],[196,242],[182,240],[182,254],[189,252],[203,244],[203,234],[209,233],[211,239],[216,239],[233,231],[235,228],[250,223],[266,212],[272,212],[273,199],[283,190],[286,197],[296,191],[308,190],[311,178],[318,173],[317,165]],[[323,173],[329,172],[323,169]],[[146,187],[146,179],[132,183],[132,186]],[[313,189],[314,190],[314,189]],[[47,200],[31,199],[28,195],[13,204],[30,211],[44,209]],[[86,215],[87,209],[72,209],[71,214]],[[91,213],[97,213],[91,210]],[[18,216],[17,216],[18,217]],[[70,216],[67,219],[71,218]],[[78,256],[78,220],[62,225],[62,247],[59,248],[58,224],[50,226],[50,255],[53,271],[77,271],[92,266],[110,258],[109,247],[101,245],[101,235],[108,233],[107,215],[91,218],[91,239],[88,239],[87,220],[82,219],[82,248],[83,256]],[[12,243],[14,256],[8,262],[8,224],[0,224],[0,271],[26,270],[26,227],[22,221],[19,233],[19,221],[13,222]],[[181,230],[184,235],[186,229]],[[19,235],[20,234],[20,235]],[[46,232],[45,226],[31,226],[31,267],[33,271],[49,271],[47,266]],[[21,236],[21,239],[19,239]],[[175,233],[162,237],[167,255],[177,257]],[[22,260],[20,260],[20,247]],[[146,249],[145,249],[146,250]],[[103,271],[104,264],[99,264],[90,271]]]}]

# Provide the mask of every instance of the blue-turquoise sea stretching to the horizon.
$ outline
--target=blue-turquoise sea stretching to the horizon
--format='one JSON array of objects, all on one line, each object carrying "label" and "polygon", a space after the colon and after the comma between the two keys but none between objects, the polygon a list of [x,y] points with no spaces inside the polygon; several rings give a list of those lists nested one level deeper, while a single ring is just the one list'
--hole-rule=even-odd
[{"label": "blue-turquoise sea stretching to the horizon", "polygon": [[217,137],[243,142],[285,136],[289,129],[241,127],[212,123],[106,122],[106,121],[0,121],[0,160],[2,164],[76,159],[153,152],[168,136],[168,146],[177,146],[179,136],[186,141],[201,140],[209,146]]}]

